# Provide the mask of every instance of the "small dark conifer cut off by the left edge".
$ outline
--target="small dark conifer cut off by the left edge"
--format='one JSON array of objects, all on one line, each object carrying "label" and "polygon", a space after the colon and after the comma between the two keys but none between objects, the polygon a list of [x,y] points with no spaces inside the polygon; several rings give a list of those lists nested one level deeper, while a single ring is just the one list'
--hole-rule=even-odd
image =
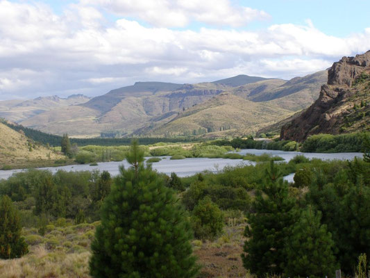
[{"label": "small dark conifer cut off by the left edge", "polygon": [[18,211],[11,199],[3,195],[0,199],[0,259],[19,258],[28,252],[21,229]]}]

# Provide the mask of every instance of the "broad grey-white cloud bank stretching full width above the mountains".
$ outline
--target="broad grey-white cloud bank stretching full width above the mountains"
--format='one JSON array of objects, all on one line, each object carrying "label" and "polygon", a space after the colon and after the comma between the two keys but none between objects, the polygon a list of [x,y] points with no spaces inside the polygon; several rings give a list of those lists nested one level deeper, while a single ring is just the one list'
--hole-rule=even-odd
[{"label": "broad grey-white cloud bank stretching full width above the mountains", "polygon": [[[151,3],[175,11],[183,7],[187,21],[211,22],[211,17],[224,13],[211,7],[214,14],[206,19],[207,7],[200,2],[120,1],[137,17],[145,7],[150,11]],[[194,31],[146,26],[129,18],[110,23],[96,6],[108,1],[88,3],[71,4],[56,15],[40,3],[0,0],[0,99],[78,92],[94,96],[135,81],[195,83],[237,74],[288,79],[370,49],[370,28],[347,38],[326,35],[312,22],[260,31],[214,27]],[[118,2],[109,3],[119,11],[114,6]],[[235,8],[228,1],[219,3]],[[239,15],[223,18],[239,22]]]}]

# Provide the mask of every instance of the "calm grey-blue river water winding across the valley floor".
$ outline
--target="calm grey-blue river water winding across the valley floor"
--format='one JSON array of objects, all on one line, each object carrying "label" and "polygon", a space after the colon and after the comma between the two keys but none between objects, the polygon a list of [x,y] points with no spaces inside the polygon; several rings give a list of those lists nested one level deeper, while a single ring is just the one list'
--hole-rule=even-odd
[{"label": "calm grey-blue river water winding across the valley floor", "polygon": [[[273,156],[281,156],[285,161],[290,161],[294,156],[303,154],[307,158],[321,158],[321,159],[340,159],[340,160],[352,160],[355,157],[362,157],[361,153],[337,153],[337,154],[313,154],[313,153],[301,153],[301,152],[283,152],[283,151],[271,151],[267,149],[242,149],[239,154],[271,154]],[[108,171],[110,174],[117,175],[119,173],[118,166],[124,165],[128,167],[126,161],[120,162],[101,162],[97,166],[90,165],[67,165],[60,167],[44,167],[39,168],[40,170],[49,170],[51,172],[57,172],[58,170],[65,171],[86,171],[86,170],[100,170]],[[224,169],[225,166],[236,166],[236,165],[254,165],[254,162],[243,161],[242,159],[225,159],[225,158],[185,158],[181,160],[170,160],[169,156],[162,156],[162,161],[153,163],[153,169],[158,172],[165,174],[171,174],[175,172],[179,177],[186,177],[204,170],[217,172]],[[0,179],[8,179],[15,172],[22,172],[24,170],[1,170]],[[290,174],[285,177],[288,181],[292,181],[294,174]]]}]

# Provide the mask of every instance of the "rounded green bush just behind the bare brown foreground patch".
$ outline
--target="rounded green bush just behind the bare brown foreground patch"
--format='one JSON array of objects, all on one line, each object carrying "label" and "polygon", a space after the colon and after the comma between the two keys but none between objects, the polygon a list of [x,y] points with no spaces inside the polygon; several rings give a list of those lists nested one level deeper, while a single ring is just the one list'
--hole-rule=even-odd
[{"label": "rounded green bush just behind the bare brown foreground patch", "polygon": [[224,213],[210,197],[205,197],[194,208],[192,224],[196,238],[212,240],[221,234],[224,227]]}]

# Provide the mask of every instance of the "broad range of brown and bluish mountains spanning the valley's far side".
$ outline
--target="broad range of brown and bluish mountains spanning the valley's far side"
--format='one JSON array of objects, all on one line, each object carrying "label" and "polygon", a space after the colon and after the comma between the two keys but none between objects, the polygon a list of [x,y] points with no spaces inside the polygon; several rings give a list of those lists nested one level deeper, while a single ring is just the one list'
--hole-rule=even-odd
[{"label": "broad range of brown and bluish mountains spanning the valley's far side", "polygon": [[[19,123],[47,133],[68,133],[74,137],[95,137],[101,133],[165,136],[196,133],[195,129],[212,131],[212,136],[240,134],[265,126],[264,121],[274,123],[281,120],[280,116],[287,117],[307,108],[317,99],[325,76],[323,71],[290,81],[240,75],[196,84],[137,82],[83,104],[31,115]],[[227,97],[218,97],[221,94],[227,94],[235,105],[231,105]],[[214,98],[221,101],[218,106],[212,101]],[[212,113],[199,111],[200,108]],[[226,108],[228,113],[224,113]],[[241,119],[237,119],[233,110],[240,112]],[[185,117],[191,111],[192,115]],[[223,115],[224,119],[218,115]],[[255,121],[255,115],[260,119]]]}]

